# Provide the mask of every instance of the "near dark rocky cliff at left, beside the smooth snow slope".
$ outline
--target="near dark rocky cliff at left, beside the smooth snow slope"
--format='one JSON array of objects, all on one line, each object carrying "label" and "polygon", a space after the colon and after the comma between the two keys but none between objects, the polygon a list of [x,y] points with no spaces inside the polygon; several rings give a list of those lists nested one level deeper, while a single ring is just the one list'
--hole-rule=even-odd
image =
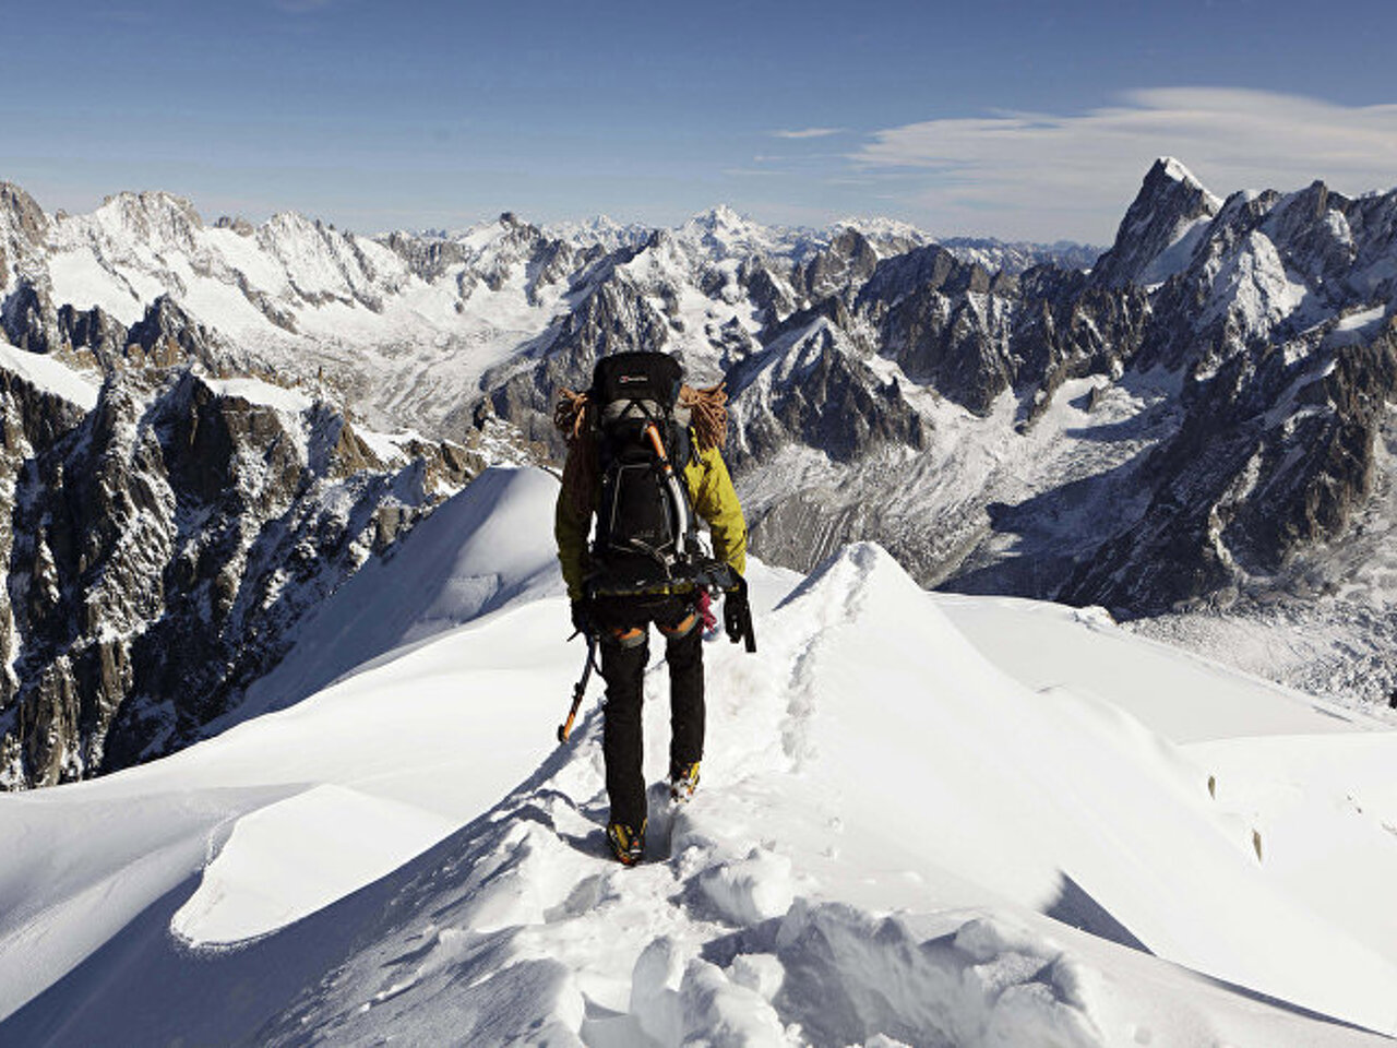
[{"label": "near dark rocky cliff at left, beside the smooth snow slope", "polygon": [[471,475],[429,446],[390,468],[326,405],[289,415],[187,370],[151,393],[116,374],[87,414],[4,370],[0,391],[8,787],[197,739],[305,611],[430,510],[439,481]]}]

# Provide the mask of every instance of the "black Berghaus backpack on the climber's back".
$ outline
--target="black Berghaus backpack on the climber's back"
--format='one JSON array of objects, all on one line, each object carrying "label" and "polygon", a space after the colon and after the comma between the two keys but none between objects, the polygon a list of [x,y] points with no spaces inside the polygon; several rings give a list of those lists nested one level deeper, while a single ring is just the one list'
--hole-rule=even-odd
[{"label": "black Berghaus backpack on the climber's back", "polygon": [[664,588],[698,556],[683,470],[693,454],[683,370],[668,354],[604,356],[588,400],[597,408],[601,497],[592,541],[595,594]]}]

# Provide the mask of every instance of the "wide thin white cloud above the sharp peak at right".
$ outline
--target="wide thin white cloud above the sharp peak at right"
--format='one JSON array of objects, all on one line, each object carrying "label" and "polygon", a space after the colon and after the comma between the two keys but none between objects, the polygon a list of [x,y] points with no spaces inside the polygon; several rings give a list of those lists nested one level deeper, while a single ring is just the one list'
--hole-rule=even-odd
[{"label": "wide thin white cloud above the sharp peak at right", "polygon": [[1239,88],[1134,91],[1080,115],[996,112],[890,127],[849,159],[898,173],[940,229],[1106,242],[1155,157],[1182,159],[1220,196],[1344,193],[1397,183],[1397,105],[1343,106]]}]

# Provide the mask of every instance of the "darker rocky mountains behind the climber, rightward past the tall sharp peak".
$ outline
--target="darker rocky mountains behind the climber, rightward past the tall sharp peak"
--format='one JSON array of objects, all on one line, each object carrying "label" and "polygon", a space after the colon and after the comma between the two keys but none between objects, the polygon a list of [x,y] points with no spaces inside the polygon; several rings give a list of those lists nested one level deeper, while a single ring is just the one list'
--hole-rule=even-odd
[{"label": "darker rocky mountains behind the climber, rightward past the tall sharp peak", "polygon": [[[1373,570],[1316,551],[1390,485],[1394,229],[1397,194],[1220,200],[1165,158],[1087,272],[886,254],[845,229],[704,284],[658,236],[483,387],[546,437],[556,390],[602,352],[665,348],[724,374],[754,548],[796,567],[872,535],[928,584],[1129,619],[1312,609]],[[1384,622],[1397,594],[1361,588]],[[1379,664],[1338,686],[1386,696],[1397,664]]]}]

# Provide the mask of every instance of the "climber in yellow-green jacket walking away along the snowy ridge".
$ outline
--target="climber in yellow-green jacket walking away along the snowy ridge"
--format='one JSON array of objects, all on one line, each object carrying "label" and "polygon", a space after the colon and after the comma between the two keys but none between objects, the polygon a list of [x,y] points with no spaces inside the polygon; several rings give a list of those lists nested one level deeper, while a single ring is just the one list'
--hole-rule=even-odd
[{"label": "climber in yellow-green jacket walking away along the snowy ridge", "polygon": [[[659,352],[604,356],[584,394],[564,390],[553,421],[567,440],[555,537],[573,626],[597,637],[606,682],[602,753],[606,838],[626,865],[644,852],[641,699],[651,623],[669,664],[669,791],[687,801],[704,745],[707,591],[724,591],[731,640],[754,648],[746,602],[747,527],[719,449],[722,386],[696,390]],[[712,556],[694,513],[708,523]],[[588,544],[592,524],[597,534]]]}]

